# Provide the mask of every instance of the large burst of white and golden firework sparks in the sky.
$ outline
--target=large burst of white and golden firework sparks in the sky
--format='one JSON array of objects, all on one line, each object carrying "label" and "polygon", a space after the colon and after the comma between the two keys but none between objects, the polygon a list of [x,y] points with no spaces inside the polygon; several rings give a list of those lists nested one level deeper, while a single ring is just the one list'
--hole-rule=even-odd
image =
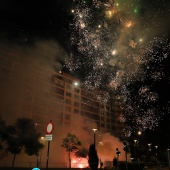
[{"label": "large burst of white and golden firework sparks in the sky", "polygon": [[[72,54],[66,67],[75,72],[83,69],[88,89],[109,84],[120,93],[125,110],[121,119],[133,122],[136,129],[152,129],[163,115],[153,87],[164,76],[162,61],[168,57],[170,44],[164,38],[155,37],[149,42],[146,37],[140,38],[140,34],[145,34],[143,30],[151,28],[143,17],[136,15],[137,1],[120,2],[94,0],[90,7],[85,1],[78,3],[72,11],[71,42],[81,55]],[[158,17],[152,19],[152,24],[158,26]],[[133,88],[136,82],[140,84],[137,89]],[[95,99],[103,102],[100,95]],[[124,133],[130,135],[134,127],[125,128]]]}]

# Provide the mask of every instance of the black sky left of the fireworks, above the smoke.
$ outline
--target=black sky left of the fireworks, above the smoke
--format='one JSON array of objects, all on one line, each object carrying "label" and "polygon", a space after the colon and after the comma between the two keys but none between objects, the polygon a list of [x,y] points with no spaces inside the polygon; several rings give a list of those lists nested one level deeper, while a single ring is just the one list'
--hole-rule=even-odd
[{"label": "black sky left of the fireworks, above the smoke", "polygon": [[[13,43],[36,39],[69,40],[70,2],[67,0],[1,0],[0,36]],[[63,39],[65,41],[63,41]]]}]

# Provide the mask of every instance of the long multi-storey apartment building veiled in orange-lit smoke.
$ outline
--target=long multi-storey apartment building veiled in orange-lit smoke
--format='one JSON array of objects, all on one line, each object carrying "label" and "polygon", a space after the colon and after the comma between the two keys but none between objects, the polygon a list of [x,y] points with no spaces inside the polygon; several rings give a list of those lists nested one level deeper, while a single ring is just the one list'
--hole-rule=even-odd
[{"label": "long multi-storey apartment building veiled in orange-lit smoke", "polygon": [[32,118],[37,130],[45,134],[50,120],[55,128],[64,129],[72,119],[82,117],[94,122],[101,132],[119,136],[122,124],[115,115],[120,106],[114,104],[113,98],[107,98],[105,92],[86,89],[67,73],[0,50],[0,116],[7,123],[19,117]]}]

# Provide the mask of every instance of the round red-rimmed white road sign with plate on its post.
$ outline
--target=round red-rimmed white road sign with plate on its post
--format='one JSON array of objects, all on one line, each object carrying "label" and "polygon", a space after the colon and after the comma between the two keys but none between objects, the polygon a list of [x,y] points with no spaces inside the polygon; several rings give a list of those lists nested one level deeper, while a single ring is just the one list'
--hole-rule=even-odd
[{"label": "round red-rimmed white road sign with plate on its post", "polygon": [[46,161],[46,170],[48,170],[48,160],[49,160],[49,152],[50,152],[50,141],[52,140],[52,131],[54,129],[54,125],[52,121],[47,124],[45,140],[48,141],[48,150],[47,150],[47,161]]}]

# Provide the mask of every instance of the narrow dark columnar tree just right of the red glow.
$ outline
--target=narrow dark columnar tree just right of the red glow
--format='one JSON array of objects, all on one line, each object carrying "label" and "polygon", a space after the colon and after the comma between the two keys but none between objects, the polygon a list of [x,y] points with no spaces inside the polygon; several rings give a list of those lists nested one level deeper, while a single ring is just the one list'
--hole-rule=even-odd
[{"label": "narrow dark columnar tree just right of the red glow", "polygon": [[89,166],[92,170],[98,169],[99,158],[98,158],[97,151],[95,149],[94,144],[90,145],[88,162],[89,162]]}]

